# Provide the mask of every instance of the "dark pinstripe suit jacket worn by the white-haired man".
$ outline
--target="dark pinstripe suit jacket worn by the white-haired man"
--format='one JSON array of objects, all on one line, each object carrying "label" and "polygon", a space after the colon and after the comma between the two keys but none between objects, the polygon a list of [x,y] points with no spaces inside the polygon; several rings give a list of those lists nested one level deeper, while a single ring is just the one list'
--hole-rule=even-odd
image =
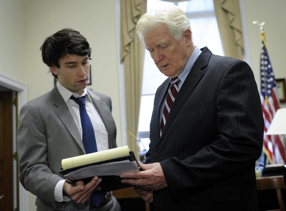
[{"label": "dark pinstripe suit jacket worn by the white-haired man", "polygon": [[169,79],[155,95],[146,163],[160,162],[168,187],[153,192],[154,210],[259,210],[254,170],[264,122],[257,84],[247,63],[201,50],[161,137]]}]

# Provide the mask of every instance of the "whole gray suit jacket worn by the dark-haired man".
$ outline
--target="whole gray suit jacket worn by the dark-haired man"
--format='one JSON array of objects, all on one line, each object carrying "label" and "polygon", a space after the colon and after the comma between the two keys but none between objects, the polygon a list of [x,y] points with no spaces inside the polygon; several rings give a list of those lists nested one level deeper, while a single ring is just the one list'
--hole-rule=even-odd
[{"label": "whole gray suit jacket worn by the dark-haired man", "polygon": [[[116,146],[116,126],[111,99],[88,90],[108,132],[109,148]],[[54,201],[54,189],[63,179],[61,160],[85,154],[80,133],[57,87],[25,104],[20,111],[17,132],[20,181],[37,196],[37,210],[89,210],[89,201]]]}]

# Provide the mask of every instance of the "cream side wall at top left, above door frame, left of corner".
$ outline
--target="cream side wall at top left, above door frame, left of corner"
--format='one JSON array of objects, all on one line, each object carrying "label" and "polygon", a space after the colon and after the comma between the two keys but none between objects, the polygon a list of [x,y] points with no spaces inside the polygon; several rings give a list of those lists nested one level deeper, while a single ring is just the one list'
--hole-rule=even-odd
[{"label": "cream side wall at top left, above door frame, left of corner", "polygon": [[24,83],[24,1],[0,0],[0,73]]}]

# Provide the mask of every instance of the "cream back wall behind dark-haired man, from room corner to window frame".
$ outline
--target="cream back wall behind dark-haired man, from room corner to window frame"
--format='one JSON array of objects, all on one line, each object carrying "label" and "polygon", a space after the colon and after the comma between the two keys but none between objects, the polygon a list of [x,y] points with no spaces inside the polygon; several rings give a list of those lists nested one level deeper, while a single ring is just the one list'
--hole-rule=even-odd
[{"label": "cream back wall behind dark-haired man, from room corner to window frame", "polygon": [[[113,117],[117,126],[117,144],[121,146],[119,81],[115,32],[114,0],[29,0],[25,4],[25,41],[28,100],[48,92],[53,77],[41,60],[39,50],[46,36],[70,27],[80,31],[92,48],[91,82],[93,90],[105,93],[113,102]],[[36,79],[36,80],[35,80]],[[37,87],[37,89],[35,89]]]}]

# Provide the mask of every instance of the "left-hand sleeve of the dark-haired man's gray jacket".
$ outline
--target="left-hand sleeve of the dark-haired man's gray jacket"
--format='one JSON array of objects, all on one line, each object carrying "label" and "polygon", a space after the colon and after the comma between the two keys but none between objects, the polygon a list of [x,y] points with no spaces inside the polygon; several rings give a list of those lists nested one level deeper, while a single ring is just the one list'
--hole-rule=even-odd
[{"label": "left-hand sleeve of the dark-haired man's gray jacket", "polygon": [[49,169],[46,130],[37,109],[26,104],[19,115],[17,150],[23,187],[55,207],[54,189],[62,178]]}]

